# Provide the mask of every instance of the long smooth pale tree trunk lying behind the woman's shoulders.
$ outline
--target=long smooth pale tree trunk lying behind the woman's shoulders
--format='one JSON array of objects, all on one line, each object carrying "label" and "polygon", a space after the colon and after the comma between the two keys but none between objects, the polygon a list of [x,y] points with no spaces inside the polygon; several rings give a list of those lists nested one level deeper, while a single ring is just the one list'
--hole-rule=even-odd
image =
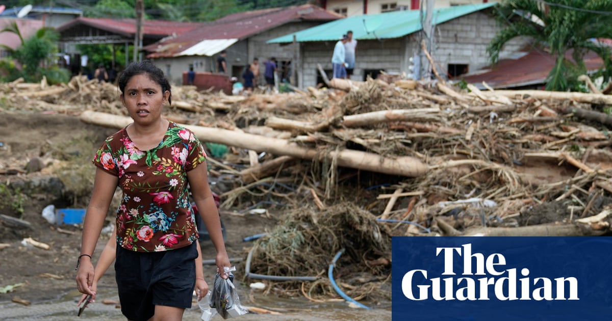
[{"label": "long smooth pale tree trunk lying behind the woman's shoulders", "polygon": [[[95,111],[84,111],[81,120],[89,124],[105,127],[123,128],[132,122],[130,117],[116,116]],[[390,175],[418,177],[427,173],[427,164],[414,157],[383,157],[375,153],[361,152],[359,150],[329,150],[327,152],[300,146],[285,139],[268,138],[251,135],[238,131],[221,128],[207,128],[193,125],[183,125],[195,135],[207,142],[236,146],[245,149],[268,152],[274,155],[288,155],[304,160],[333,159],[338,166],[362,169],[365,171],[381,172]]]}]

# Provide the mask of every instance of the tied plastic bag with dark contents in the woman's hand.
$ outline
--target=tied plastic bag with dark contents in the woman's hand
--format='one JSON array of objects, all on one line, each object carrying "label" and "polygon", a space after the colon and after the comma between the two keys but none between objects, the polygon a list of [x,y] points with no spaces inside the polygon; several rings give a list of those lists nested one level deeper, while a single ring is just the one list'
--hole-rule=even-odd
[{"label": "tied plastic bag with dark contents in the woman's hand", "polygon": [[[215,276],[214,287],[210,297],[210,308],[214,308],[223,319],[247,314],[248,311],[240,304],[236,287],[234,287],[234,275],[231,271],[236,271],[236,267],[225,267],[224,270],[228,278],[223,279],[219,273]],[[204,320],[204,315],[202,320]]]}]

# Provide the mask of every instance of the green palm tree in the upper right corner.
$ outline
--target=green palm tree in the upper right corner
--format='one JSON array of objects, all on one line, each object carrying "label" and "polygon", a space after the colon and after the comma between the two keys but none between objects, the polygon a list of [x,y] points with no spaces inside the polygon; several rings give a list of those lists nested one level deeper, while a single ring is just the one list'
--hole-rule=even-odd
[{"label": "green palm tree in the upper right corner", "polygon": [[604,82],[612,77],[610,48],[594,41],[612,38],[612,0],[505,0],[497,9],[505,27],[487,48],[493,64],[504,44],[528,36],[556,56],[547,90],[575,89],[578,76],[586,73],[583,57],[589,51],[603,59]]}]

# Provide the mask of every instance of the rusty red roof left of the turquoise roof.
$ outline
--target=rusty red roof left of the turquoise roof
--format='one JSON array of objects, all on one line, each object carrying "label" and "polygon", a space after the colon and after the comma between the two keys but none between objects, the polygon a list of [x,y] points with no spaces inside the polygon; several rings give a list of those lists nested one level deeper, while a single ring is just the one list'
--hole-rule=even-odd
[{"label": "rusty red roof left of the turquoise roof", "polygon": [[145,46],[144,50],[152,52],[147,57],[172,57],[203,40],[245,39],[293,21],[332,21],[340,18],[343,16],[312,4],[240,12],[182,34],[177,32],[176,37]]}]

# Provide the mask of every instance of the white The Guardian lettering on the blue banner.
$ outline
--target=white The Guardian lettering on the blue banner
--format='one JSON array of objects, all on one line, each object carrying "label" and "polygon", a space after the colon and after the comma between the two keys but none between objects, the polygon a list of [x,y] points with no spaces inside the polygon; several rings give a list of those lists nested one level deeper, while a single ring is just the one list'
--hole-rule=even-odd
[{"label": "white The Guardian lettering on the blue banner", "polygon": [[[435,256],[444,260],[444,271],[410,270],[401,278],[401,292],[409,300],[436,301],[525,300],[566,301],[578,298],[578,279],[532,277],[528,267],[507,267],[506,257],[472,253],[471,243],[436,247]],[[460,275],[453,266],[463,260]],[[428,275],[448,276],[428,278]]]}]

